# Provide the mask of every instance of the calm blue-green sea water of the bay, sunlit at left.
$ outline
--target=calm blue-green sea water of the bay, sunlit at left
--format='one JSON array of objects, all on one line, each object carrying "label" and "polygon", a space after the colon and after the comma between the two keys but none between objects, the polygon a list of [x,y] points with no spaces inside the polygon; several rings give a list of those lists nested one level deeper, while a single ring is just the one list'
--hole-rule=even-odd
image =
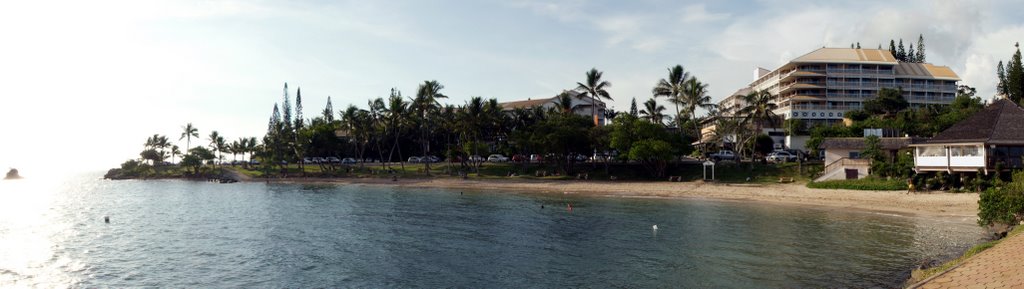
[{"label": "calm blue-green sea water of the bay, sunlit at left", "polygon": [[0,286],[898,287],[920,260],[979,242],[972,222],[90,174],[0,181]]}]

